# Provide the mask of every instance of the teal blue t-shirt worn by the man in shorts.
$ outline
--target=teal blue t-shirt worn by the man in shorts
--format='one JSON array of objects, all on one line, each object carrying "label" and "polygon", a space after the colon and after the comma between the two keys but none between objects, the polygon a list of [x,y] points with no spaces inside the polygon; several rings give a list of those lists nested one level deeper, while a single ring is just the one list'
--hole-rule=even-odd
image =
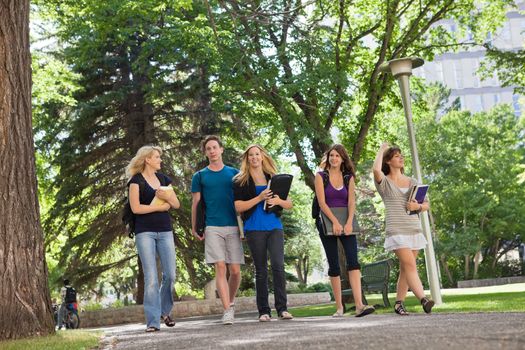
[{"label": "teal blue t-shirt worn by the man in shorts", "polygon": [[219,171],[208,167],[193,174],[191,192],[200,192],[206,204],[206,226],[237,226],[232,179],[239,170],[225,165]]}]

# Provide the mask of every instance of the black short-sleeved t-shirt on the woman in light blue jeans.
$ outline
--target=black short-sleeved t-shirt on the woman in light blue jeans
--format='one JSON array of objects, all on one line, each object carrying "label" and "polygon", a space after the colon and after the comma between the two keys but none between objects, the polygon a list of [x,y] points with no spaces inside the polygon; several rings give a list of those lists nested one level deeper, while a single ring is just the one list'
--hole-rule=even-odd
[{"label": "black short-sleeved t-shirt on the woman in light blue jeans", "polygon": [[[157,178],[160,184],[168,186],[172,183],[171,179],[164,174],[157,173]],[[140,193],[139,185],[139,202],[140,204],[149,205],[155,197],[155,190],[148,184],[141,173],[136,174],[131,178],[129,183],[139,184],[141,181],[145,182],[142,195]],[[155,211],[148,214],[135,214],[135,234],[141,232],[165,232],[172,231],[170,214],[167,211]]]}]

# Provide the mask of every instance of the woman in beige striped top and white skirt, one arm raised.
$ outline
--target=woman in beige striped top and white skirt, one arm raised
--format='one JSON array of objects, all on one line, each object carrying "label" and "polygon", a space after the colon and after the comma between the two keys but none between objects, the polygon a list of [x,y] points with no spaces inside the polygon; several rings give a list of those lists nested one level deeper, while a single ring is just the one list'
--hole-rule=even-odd
[{"label": "woman in beige striped top and white skirt, one arm raised", "polygon": [[389,147],[383,143],[377,152],[373,172],[375,186],[386,209],[385,249],[394,251],[399,259],[394,311],[402,316],[408,315],[404,301],[410,288],[428,314],[432,311],[434,301],[425,296],[416,264],[419,250],[426,246],[427,241],[419,215],[411,215],[428,210],[428,201],[409,201],[410,189],[418,183],[404,175],[404,158],[398,147]]}]

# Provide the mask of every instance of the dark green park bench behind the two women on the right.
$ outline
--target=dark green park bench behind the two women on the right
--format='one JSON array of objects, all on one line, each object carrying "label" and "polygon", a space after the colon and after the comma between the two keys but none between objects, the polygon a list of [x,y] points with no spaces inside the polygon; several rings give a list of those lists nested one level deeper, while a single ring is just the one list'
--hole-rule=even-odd
[{"label": "dark green park bench behind the two women on the right", "polygon": [[[363,303],[368,304],[366,301],[365,292],[380,292],[383,295],[384,306],[390,307],[390,301],[388,300],[388,282],[391,268],[391,259],[376,261],[361,267],[361,294],[363,295]],[[352,295],[352,289],[344,289],[342,294],[343,297]],[[346,305],[344,301],[343,307],[344,311],[346,312]]]}]

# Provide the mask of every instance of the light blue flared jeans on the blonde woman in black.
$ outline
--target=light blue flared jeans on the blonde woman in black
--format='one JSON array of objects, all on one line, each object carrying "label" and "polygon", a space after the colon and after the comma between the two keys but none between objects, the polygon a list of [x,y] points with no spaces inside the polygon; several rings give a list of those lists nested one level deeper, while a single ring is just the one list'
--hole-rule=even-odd
[{"label": "light blue flared jeans on the blonde woman in black", "polygon": [[[175,243],[173,232],[141,232],[135,236],[144,271],[144,314],[147,327],[160,328],[160,317],[169,316],[173,308],[172,288],[175,282]],[[156,255],[162,265],[159,288]]]}]

